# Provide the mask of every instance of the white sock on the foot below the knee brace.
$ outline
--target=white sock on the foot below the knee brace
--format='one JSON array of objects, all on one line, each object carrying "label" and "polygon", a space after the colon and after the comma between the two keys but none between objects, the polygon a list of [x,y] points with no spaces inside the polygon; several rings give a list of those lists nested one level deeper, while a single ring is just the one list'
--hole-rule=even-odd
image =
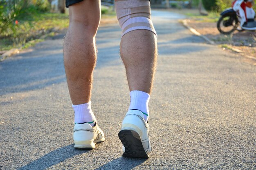
[{"label": "white sock on the foot below the knee brace", "polygon": [[143,91],[131,91],[130,97],[131,97],[131,103],[130,103],[129,110],[131,109],[140,110],[144,115],[145,121],[147,122],[148,115],[149,115],[148,102],[150,99],[150,95]]}]

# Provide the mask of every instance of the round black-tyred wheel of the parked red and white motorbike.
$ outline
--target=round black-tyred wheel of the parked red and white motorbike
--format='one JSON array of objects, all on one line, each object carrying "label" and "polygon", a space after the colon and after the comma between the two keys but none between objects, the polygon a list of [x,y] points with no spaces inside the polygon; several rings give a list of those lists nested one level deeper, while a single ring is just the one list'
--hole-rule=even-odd
[{"label": "round black-tyred wheel of the parked red and white motorbike", "polygon": [[233,33],[239,25],[237,16],[224,15],[221,16],[217,23],[217,28],[220,33],[229,35]]}]

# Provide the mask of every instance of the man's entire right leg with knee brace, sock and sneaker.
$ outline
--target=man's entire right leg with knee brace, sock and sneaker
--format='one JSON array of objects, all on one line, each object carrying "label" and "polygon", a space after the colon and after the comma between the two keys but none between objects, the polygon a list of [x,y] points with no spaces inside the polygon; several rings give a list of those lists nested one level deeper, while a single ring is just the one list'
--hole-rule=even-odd
[{"label": "man's entire right leg with knee brace, sock and sneaker", "polygon": [[121,58],[126,68],[131,103],[123,120],[119,139],[124,156],[148,158],[148,101],[157,60],[156,33],[148,0],[116,0],[117,18],[123,31]]}]

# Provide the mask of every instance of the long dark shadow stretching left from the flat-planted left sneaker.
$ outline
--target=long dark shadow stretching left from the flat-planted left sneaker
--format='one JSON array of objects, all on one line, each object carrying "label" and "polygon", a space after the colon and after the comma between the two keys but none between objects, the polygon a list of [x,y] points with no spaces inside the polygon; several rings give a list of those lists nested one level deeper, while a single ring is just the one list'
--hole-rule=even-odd
[{"label": "long dark shadow stretching left from the flat-planted left sneaker", "polygon": [[74,157],[75,155],[90,152],[90,150],[78,150],[74,149],[74,144],[64,146],[47,153],[43,157],[19,168],[18,170],[44,170],[53,165],[61,163],[66,159]]}]

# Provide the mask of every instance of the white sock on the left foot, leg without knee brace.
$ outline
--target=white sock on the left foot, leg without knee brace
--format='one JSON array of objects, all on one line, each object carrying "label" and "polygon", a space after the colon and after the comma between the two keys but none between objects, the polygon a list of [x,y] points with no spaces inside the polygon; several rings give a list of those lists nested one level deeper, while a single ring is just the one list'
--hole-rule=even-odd
[{"label": "white sock on the left foot, leg without knee brace", "polygon": [[91,109],[91,101],[85,104],[72,105],[75,113],[75,124],[88,123],[94,126],[96,118]]}]

